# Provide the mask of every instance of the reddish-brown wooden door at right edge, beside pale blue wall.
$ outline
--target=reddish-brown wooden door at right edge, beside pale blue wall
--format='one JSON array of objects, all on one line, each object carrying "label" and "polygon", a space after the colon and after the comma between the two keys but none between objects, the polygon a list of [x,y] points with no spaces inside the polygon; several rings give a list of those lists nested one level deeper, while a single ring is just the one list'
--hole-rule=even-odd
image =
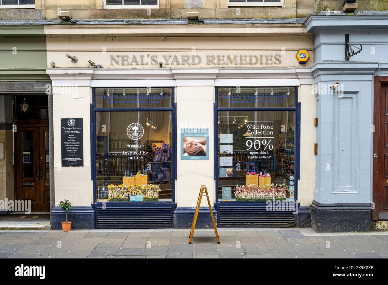
[{"label": "reddish-brown wooden door at right edge, beside pale blue wall", "polygon": [[388,218],[388,84],[378,85],[374,102],[374,220]]}]

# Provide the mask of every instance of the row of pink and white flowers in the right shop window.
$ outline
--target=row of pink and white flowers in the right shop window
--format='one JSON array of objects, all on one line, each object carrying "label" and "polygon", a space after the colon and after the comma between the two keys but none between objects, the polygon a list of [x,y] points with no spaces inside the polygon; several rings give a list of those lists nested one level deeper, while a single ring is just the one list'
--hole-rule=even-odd
[{"label": "row of pink and white flowers in the right shop window", "polygon": [[272,200],[286,198],[287,188],[283,185],[265,185],[258,187],[252,184],[236,186],[236,201]]}]

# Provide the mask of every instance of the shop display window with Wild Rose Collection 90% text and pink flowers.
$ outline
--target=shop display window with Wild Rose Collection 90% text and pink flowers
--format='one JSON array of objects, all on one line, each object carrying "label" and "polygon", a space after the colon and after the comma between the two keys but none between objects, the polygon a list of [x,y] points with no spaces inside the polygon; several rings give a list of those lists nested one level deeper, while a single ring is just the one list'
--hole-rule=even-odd
[{"label": "shop display window with Wild Rose Collection 90% text and pink flowers", "polygon": [[217,88],[218,202],[295,200],[294,87]]}]

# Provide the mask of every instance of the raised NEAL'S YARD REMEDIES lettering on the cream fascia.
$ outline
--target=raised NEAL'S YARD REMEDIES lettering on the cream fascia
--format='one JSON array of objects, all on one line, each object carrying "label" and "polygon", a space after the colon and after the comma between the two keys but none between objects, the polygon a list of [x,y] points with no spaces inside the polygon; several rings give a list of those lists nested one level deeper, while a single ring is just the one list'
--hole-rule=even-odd
[{"label": "raised NEAL'S YARD REMEDIES lettering on the cream fascia", "polygon": [[280,54],[206,54],[203,57],[200,55],[173,55],[167,54],[158,57],[156,54],[147,55],[111,55],[110,65],[131,65],[131,66],[158,66],[162,62],[165,66],[192,66],[198,65],[202,61],[207,65],[227,66],[227,65],[272,65],[281,64]]}]

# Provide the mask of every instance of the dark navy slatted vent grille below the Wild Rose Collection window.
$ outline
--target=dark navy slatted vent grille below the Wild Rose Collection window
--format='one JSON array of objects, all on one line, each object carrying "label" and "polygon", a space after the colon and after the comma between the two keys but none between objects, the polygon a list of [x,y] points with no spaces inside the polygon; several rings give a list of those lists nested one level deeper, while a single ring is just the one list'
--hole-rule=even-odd
[{"label": "dark navy slatted vent grille below the Wild Rose Collection window", "polygon": [[292,211],[267,211],[265,206],[218,206],[220,228],[294,226]]}]

